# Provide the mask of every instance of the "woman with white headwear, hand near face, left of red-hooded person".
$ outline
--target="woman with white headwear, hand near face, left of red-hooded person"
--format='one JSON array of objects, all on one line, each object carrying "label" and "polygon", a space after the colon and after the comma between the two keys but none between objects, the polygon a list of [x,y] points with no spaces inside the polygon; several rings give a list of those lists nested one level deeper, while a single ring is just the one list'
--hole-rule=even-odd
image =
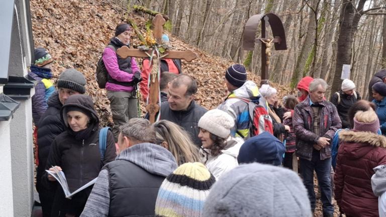
[{"label": "woman with white headwear, hand near face, left of red-hooded person", "polygon": [[283,141],[283,134],[285,131],[289,131],[288,125],[283,125],[283,108],[277,101],[277,90],[268,84],[261,85],[259,89],[261,96],[265,98],[268,103],[268,114],[272,119],[273,136]]}]

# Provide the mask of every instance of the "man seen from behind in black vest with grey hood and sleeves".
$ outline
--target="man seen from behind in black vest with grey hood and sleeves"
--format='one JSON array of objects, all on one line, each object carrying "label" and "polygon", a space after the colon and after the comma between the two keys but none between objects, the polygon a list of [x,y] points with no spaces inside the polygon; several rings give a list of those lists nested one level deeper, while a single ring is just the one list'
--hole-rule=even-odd
[{"label": "man seen from behind in black vest with grey hood and sleeves", "polygon": [[154,216],[158,189],[177,168],[173,155],[154,143],[148,120],[122,126],[119,155],[102,168],[80,216]]}]

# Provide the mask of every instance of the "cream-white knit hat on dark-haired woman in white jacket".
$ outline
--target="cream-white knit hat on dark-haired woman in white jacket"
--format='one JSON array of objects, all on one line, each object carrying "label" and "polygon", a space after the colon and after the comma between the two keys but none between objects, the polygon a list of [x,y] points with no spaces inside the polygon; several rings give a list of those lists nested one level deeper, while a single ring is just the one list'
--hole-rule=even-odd
[{"label": "cream-white knit hat on dark-haired woman in white jacket", "polygon": [[234,125],[233,118],[228,113],[218,109],[208,111],[199,121],[199,128],[224,139],[231,134],[230,129]]}]

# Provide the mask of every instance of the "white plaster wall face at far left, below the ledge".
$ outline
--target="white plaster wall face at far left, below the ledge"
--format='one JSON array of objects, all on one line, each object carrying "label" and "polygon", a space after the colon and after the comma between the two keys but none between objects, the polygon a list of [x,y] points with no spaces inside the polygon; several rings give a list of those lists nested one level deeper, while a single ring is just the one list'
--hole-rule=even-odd
[{"label": "white plaster wall face at far left, below the ledge", "polygon": [[[0,93],[3,87],[0,86]],[[14,216],[12,190],[10,122],[0,122],[0,215]],[[15,215],[16,216],[16,215]]]}]

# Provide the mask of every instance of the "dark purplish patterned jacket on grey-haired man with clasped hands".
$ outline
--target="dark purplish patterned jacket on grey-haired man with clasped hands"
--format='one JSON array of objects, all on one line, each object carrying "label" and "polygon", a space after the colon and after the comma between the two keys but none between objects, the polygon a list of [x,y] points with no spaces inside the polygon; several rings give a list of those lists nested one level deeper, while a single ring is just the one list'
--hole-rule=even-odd
[{"label": "dark purplish patterned jacket on grey-haired man with clasped hands", "polygon": [[[335,132],[342,127],[338,112],[334,104],[323,100],[319,103],[322,108],[320,114],[320,134],[313,133],[314,118],[310,105],[310,96],[295,107],[293,125],[296,134],[297,150],[296,155],[307,160],[312,159],[313,145],[319,137],[327,137],[332,142]],[[330,146],[320,150],[320,159],[325,160],[331,157]]]}]

